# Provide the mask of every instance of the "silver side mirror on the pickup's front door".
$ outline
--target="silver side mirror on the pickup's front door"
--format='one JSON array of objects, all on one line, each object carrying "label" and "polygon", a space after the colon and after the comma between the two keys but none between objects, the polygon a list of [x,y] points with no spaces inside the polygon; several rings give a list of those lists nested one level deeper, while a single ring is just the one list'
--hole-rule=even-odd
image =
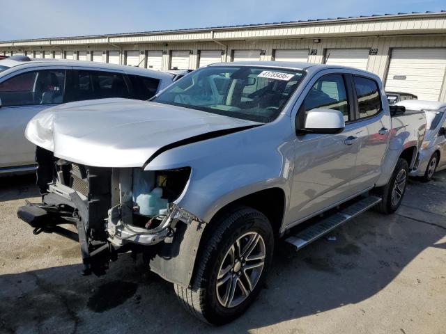
[{"label": "silver side mirror on the pickup's front door", "polygon": [[344,115],[334,109],[312,109],[307,111],[304,129],[298,134],[339,134],[346,127]]}]

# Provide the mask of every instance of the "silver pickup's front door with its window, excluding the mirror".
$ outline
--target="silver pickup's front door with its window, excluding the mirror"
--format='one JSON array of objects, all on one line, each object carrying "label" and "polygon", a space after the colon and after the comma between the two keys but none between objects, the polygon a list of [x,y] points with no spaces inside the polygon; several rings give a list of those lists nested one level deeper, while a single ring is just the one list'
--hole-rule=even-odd
[{"label": "silver pickup's front door with its window, excluding the mirror", "polygon": [[327,74],[316,81],[299,113],[315,108],[344,114],[340,134],[305,134],[295,138],[295,167],[291,193],[293,223],[304,220],[355,194],[352,180],[360,141],[360,127],[351,122],[353,106],[343,74]]}]

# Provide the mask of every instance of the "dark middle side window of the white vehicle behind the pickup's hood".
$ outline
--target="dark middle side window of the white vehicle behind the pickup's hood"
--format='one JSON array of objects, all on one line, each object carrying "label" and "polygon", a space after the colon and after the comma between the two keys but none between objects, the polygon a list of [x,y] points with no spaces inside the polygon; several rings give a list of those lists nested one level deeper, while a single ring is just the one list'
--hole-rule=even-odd
[{"label": "dark middle side window of the white vehicle behind the pickup's hood", "polygon": [[89,70],[75,70],[72,73],[72,88],[68,92],[68,102],[108,97],[130,98],[121,73]]}]

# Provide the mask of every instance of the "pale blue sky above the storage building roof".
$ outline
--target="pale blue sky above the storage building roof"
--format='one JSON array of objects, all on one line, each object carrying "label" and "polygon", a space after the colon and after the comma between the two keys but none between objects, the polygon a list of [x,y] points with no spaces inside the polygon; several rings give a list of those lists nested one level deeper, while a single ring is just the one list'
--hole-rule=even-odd
[{"label": "pale blue sky above the storage building roof", "polygon": [[440,10],[445,0],[3,0],[0,40]]}]

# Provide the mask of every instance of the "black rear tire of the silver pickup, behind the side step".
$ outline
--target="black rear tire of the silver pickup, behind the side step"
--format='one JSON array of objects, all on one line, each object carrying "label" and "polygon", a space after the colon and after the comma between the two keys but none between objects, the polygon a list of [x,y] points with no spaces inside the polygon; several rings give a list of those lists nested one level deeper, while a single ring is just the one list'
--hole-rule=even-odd
[{"label": "black rear tire of the silver pickup, behind the side step", "polygon": [[[381,186],[380,188],[376,188],[371,191],[371,193],[373,193],[375,196],[381,198],[381,202],[374,208],[376,211],[382,214],[393,214],[395,211],[397,211],[399,205],[401,205],[401,201],[403,200],[404,193],[406,192],[408,170],[409,167],[407,161],[399,158],[397,161],[397,166],[395,166],[389,182],[387,182],[385,186]],[[403,183],[400,183],[399,180],[397,180],[401,173],[404,175]],[[395,186],[397,186],[396,183],[399,184],[398,191],[395,189]],[[399,194],[397,201],[392,200],[392,193],[394,189]]]}]

